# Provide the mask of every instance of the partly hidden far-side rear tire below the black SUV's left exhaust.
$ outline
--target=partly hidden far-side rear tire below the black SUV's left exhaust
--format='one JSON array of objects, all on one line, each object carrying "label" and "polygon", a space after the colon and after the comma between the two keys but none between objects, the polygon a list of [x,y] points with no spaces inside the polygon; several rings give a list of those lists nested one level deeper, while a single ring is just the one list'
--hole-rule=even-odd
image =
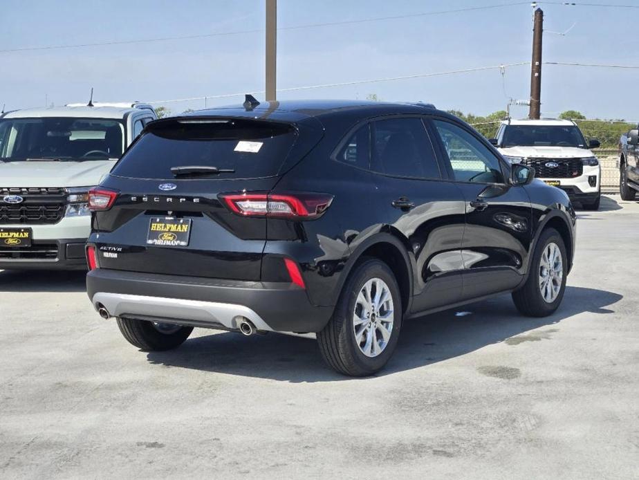
[{"label": "partly hidden far-side rear tire below the black SUV's left exhaust", "polygon": [[181,326],[171,333],[162,333],[147,320],[129,320],[118,318],[118,327],[122,336],[134,347],[144,351],[165,351],[179,347],[185,342],[191,332],[192,326]]}]

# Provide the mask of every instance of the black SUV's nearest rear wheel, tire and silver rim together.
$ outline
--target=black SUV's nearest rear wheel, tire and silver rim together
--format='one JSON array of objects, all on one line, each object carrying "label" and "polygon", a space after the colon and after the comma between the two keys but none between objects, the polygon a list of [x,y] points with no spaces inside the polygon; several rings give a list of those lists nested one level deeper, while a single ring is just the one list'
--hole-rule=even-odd
[{"label": "black SUV's nearest rear wheel, tire and silver rim together", "polygon": [[344,375],[376,373],[391,358],[402,326],[402,299],[391,269],[364,261],[346,280],[333,317],[317,333],[324,361]]}]

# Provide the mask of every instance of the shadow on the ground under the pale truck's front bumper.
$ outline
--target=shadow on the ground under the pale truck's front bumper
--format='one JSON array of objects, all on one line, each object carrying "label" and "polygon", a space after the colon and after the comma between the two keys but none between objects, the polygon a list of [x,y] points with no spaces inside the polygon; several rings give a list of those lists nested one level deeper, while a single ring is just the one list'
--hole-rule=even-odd
[{"label": "shadow on the ground under the pale truck's front bumper", "polygon": [[84,292],[83,270],[0,270],[0,292]]}]

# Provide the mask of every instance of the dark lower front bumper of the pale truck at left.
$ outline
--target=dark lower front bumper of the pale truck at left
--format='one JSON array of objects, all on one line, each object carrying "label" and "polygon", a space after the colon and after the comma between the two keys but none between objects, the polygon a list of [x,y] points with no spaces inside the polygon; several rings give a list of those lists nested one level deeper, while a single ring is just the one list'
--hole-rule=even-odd
[{"label": "dark lower front bumper of the pale truck at left", "polygon": [[30,247],[0,246],[0,270],[86,270],[85,243],[86,238],[34,239]]}]

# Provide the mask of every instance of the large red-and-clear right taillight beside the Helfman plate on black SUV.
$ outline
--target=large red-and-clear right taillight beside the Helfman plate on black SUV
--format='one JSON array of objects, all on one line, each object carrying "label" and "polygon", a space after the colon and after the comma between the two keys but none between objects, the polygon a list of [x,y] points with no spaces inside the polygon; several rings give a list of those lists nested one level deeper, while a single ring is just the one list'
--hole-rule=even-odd
[{"label": "large red-and-clear right taillight beside the Helfman plate on black SUV", "polygon": [[269,216],[286,219],[313,219],[331,205],[333,196],[316,193],[232,193],[219,198],[231,212],[243,216]]}]

